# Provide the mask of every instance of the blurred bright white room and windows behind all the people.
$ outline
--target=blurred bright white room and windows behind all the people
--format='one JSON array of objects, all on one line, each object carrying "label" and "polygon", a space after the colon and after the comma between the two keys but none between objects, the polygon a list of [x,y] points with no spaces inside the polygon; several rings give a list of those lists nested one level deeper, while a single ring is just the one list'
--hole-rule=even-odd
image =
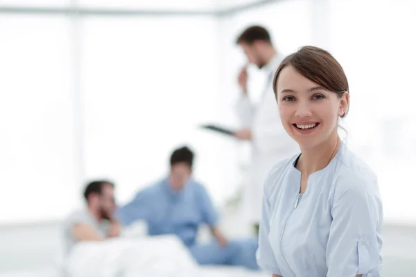
[{"label": "blurred bright white room and windows behind all the people", "polygon": [[[198,125],[236,126],[235,40],[260,24],[284,55],[310,44],[343,65],[347,144],[379,176],[387,264],[416,276],[415,12],[409,0],[0,0],[0,272],[53,264],[86,181],[115,181],[123,204],[183,144],[233,225],[248,145]],[[255,98],[263,77],[249,75]]]}]

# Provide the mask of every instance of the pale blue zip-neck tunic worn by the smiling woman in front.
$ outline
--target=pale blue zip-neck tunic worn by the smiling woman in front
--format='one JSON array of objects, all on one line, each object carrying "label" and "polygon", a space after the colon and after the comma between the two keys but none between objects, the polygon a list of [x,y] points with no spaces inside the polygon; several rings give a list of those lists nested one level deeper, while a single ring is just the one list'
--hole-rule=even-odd
[{"label": "pale blue zip-neck tunic worn by the smiling woman in front", "polygon": [[383,207],[374,172],[341,144],[300,195],[298,157],[265,182],[259,266],[284,277],[379,277]]}]

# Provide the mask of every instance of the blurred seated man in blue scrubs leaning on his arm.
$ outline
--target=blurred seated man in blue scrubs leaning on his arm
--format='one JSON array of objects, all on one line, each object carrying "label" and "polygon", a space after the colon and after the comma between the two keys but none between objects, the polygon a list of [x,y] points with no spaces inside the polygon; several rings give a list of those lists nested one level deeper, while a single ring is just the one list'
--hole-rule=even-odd
[{"label": "blurred seated man in blue scrubs leaning on his arm", "polygon": [[[235,265],[258,269],[257,239],[227,241],[218,229],[218,215],[202,184],[192,179],[193,152],[187,147],[171,155],[171,172],[141,190],[117,211],[123,224],[144,220],[149,235],[177,235],[200,265]],[[197,244],[198,226],[208,224],[214,242]]]}]

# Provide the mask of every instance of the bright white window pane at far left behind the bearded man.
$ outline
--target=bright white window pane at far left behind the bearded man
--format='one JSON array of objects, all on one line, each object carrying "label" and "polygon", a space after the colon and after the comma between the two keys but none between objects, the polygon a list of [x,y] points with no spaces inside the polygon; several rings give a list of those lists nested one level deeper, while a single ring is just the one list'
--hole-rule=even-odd
[{"label": "bright white window pane at far left behind the bearded man", "polygon": [[0,17],[2,223],[62,217],[76,199],[69,27],[60,17]]}]

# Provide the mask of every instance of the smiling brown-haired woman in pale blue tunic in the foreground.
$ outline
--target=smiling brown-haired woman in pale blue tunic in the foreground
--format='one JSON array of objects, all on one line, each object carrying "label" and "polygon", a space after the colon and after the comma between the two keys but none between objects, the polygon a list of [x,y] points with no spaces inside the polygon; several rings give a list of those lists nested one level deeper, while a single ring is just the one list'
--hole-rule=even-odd
[{"label": "smiling brown-haired woman in pale blue tunic in the foreground", "polygon": [[338,136],[349,107],[342,66],[305,46],[281,62],[273,87],[281,123],[302,153],[266,180],[259,266],[274,276],[380,276],[376,175]]}]

